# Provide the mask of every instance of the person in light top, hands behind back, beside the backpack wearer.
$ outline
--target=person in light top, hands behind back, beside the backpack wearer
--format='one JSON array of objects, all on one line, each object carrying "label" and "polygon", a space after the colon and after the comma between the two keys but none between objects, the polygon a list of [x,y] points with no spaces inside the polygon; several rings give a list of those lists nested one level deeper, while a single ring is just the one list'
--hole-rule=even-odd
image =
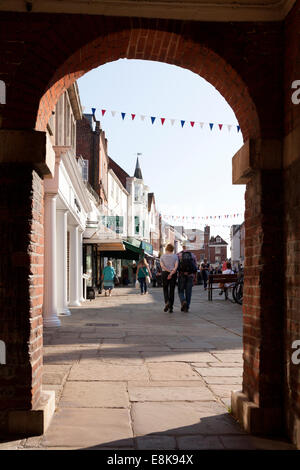
[{"label": "person in light top, hands behind back, beside the backpack wearer", "polygon": [[164,290],[165,308],[164,312],[169,310],[173,312],[174,291],[177,279],[178,256],[174,254],[174,245],[169,243],[166,246],[166,252],[160,258],[162,269],[162,283]]}]

